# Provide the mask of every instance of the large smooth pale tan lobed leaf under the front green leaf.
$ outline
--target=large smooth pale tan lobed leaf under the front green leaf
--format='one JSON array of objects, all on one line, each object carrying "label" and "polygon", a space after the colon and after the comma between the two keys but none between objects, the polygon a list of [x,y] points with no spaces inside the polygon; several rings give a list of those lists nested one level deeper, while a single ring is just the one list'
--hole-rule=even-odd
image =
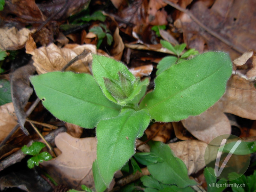
[{"label": "large smooth pale tan lobed leaf under the front green leaf", "polygon": [[94,186],[92,163],[96,159],[97,140],[95,137],[77,139],[68,133],[60,133],[55,138],[60,156],[42,163],[47,172],[58,183],[72,188]]}]

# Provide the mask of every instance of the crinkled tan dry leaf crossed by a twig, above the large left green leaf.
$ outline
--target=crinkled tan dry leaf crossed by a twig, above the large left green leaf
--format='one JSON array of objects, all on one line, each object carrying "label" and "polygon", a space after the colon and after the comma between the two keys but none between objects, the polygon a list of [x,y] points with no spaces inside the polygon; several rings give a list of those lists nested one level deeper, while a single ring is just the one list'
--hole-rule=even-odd
[{"label": "crinkled tan dry leaf crossed by a twig, above the large left green leaf", "polygon": [[[33,55],[33,65],[36,67],[38,74],[60,71],[70,60],[81,54],[84,49],[96,53],[96,46],[91,44],[67,44],[63,48],[59,48],[57,45],[51,43],[47,47],[36,49],[36,44],[31,36],[26,44],[26,52]],[[67,70],[77,73],[88,73],[90,72],[89,63],[91,62],[92,55],[89,54],[84,59],[73,63]]]}]

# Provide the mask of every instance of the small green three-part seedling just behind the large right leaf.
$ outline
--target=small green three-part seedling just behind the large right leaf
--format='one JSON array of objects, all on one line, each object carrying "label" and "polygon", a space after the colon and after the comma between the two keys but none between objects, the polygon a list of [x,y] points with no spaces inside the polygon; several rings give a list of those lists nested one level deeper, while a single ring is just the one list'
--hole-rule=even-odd
[{"label": "small green three-part seedling just behind the large right leaf", "polygon": [[191,55],[198,54],[198,51],[195,51],[195,49],[189,49],[185,53],[181,54],[187,46],[187,44],[185,44],[185,43],[180,44],[180,45],[175,45],[174,47],[168,41],[160,40],[160,43],[162,44],[162,46],[164,48],[170,50],[176,56],[166,56],[166,57],[164,57],[158,63],[158,65],[156,67],[157,68],[156,75],[159,75],[164,70],[170,68],[172,65],[184,60],[185,58],[188,58]]}]

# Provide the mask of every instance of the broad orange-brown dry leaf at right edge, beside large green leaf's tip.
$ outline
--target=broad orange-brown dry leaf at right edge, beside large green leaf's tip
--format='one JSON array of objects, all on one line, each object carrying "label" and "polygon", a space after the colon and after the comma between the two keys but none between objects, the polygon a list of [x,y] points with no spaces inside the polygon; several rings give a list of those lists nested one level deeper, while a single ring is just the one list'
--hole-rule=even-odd
[{"label": "broad orange-brown dry leaf at right edge, beside large green leaf's tip", "polygon": [[223,112],[246,119],[256,120],[256,89],[252,82],[234,75],[228,81],[228,88],[218,101]]}]

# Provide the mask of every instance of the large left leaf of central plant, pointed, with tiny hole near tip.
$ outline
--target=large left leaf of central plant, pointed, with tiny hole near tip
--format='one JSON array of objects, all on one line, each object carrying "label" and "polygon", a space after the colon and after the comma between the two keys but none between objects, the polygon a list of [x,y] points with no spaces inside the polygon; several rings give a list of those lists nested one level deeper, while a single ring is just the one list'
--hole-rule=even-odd
[{"label": "large left leaf of central plant, pointed, with tiny hole near tip", "polygon": [[89,74],[56,71],[30,81],[44,107],[62,121],[94,128],[101,119],[119,114],[120,107],[102,94]]}]

